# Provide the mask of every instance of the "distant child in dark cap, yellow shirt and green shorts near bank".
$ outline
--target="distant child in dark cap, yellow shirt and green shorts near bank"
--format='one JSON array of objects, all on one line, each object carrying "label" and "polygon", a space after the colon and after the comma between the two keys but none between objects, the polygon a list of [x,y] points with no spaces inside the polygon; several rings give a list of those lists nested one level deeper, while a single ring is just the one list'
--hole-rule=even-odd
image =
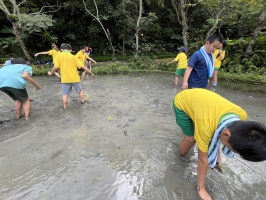
[{"label": "distant child in dark cap, yellow shirt and green shorts near bank", "polygon": [[166,65],[170,65],[172,63],[177,63],[176,71],[175,71],[175,85],[178,83],[178,76],[184,75],[186,68],[188,66],[186,49],[184,47],[177,48],[178,54],[174,60],[168,62]]}]

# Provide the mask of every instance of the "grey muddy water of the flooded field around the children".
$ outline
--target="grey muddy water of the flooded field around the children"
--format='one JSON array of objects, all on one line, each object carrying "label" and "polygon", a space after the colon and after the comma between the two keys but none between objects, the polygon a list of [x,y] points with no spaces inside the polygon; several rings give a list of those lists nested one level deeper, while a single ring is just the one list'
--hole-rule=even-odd
[{"label": "grey muddy water of the flooded field around the children", "polygon": [[[176,155],[182,132],[172,101],[180,91],[169,74],[97,76],[83,82],[87,103],[73,91],[62,110],[56,77],[34,77],[29,122],[15,120],[0,93],[0,199],[191,200],[196,149]],[[266,122],[264,87],[219,83],[216,92]],[[233,86],[229,88],[229,86]],[[209,170],[213,199],[265,199],[266,163],[224,158],[224,174]]]}]

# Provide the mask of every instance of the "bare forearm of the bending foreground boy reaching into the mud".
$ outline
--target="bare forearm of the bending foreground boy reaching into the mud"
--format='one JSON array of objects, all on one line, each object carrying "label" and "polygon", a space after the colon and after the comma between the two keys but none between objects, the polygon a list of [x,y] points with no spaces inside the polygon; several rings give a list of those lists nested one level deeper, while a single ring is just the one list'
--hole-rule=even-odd
[{"label": "bare forearm of the bending foreground boy reaching into the mud", "polygon": [[208,170],[208,153],[198,149],[198,181],[197,190],[201,199],[211,200],[209,193],[205,189],[205,179]]}]

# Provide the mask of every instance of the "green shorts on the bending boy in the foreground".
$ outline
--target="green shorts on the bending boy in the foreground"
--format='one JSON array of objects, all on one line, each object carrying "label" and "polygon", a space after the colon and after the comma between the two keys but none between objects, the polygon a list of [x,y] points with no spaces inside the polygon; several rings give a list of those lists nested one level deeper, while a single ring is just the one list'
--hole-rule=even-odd
[{"label": "green shorts on the bending boy in the foreground", "polygon": [[179,110],[173,103],[175,118],[177,125],[182,129],[186,136],[194,136],[193,121],[190,117],[182,110]]}]

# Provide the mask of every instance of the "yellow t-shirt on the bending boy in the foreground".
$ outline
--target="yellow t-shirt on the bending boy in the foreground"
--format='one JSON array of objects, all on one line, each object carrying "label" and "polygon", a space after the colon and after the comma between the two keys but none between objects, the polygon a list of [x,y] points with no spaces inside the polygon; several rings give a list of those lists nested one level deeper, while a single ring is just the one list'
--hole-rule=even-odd
[{"label": "yellow t-shirt on the bending boy in the foreground", "polygon": [[187,89],[178,93],[174,104],[194,122],[194,138],[202,152],[208,152],[212,135],[224,114],[234,113],[241,120],[247,118],[246,111],[241,107],[217,93],[202,88]]}]

